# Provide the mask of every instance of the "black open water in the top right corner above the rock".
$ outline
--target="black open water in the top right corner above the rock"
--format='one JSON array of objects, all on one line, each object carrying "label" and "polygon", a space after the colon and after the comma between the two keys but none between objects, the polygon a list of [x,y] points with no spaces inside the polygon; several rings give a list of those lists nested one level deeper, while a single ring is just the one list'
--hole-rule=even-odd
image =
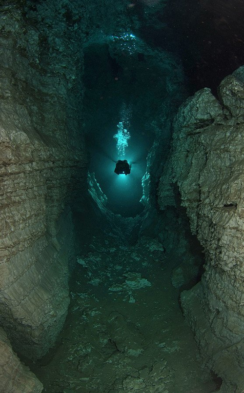
[{"label": "black open water in the top right corner above the rock", "polygon": [[143,39],[179,57],[190,94],[203,87],[217,94],[221,80],[244,64],[242,0],[169,0],[149,20],[141,1],[136,7]]}]

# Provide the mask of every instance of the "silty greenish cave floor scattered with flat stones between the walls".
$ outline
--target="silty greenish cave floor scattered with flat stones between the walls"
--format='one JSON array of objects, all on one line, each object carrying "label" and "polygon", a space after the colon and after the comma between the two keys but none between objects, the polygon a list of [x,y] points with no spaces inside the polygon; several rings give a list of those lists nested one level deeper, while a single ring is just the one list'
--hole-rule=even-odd
[{"label": "silty greenish cave floor scattered with flat stones between the walls", "polygon": [[144,236],[123,246],[102,233],[84,243],[57,346],[31,367],[43,392],[215,391],[160,243]]}]

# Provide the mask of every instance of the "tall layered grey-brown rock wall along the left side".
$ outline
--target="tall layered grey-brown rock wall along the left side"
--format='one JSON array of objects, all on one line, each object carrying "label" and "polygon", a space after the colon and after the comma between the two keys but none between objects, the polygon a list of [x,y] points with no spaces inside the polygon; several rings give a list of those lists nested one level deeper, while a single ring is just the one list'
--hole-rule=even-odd
[{"label": "tall layered grey-brown rock wall along the left side", "polygon": [[14,350],[35,359],[54,344],[69,304],[71,205],[86,167],[79,81],[65,42],[55,56],[20,9],[2,6],[0,26],[0,323]]}]

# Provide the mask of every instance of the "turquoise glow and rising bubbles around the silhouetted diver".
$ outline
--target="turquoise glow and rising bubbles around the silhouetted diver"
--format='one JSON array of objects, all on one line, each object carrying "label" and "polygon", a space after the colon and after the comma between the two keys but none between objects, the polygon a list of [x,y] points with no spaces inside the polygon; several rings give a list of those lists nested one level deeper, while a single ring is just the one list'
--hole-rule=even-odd
[{"label": "turquoise glow and rising bubbles around the silhouetted diver", "polygon": [[[94,142],[90,171],[95,172],[103,193],[107,196],[107,208],[122,216],[135,216],[144,208],[142,198],[142,176],[146,170],[144,147],[138,130],[131,127],[132,108],[122,103],[120,122],[114,135],[114,126],[108,130],[107,138]],[[128,131],[129,130],[129,131]],[[116,146],[114,143],[116,139]],[[126,159],[131,165],[131,173],[117,175],[114,170],[117,161]]]}]

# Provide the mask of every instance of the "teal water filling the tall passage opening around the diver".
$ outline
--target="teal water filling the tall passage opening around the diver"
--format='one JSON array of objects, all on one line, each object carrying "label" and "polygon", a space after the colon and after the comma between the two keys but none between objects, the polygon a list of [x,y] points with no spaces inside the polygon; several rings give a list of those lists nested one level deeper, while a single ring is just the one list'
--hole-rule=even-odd
[{"label": "teal water filling the tall passage opening around the diver", "polygon": [[[124,56],[131,59],[128,51]],[[152,130],[145,127],[144,112],[150,99],[148,95],[154,94],[150,91],[150,81],[155,85],[155,77],[147,63],[138,62],[136,57],[134,64],[130,67],[123,65],[122,68],[116,60],[113,61],[106,44],[92,45],[85,51],[84,102],[89,171],[95,173],[108,198],[108,207],[122,216],[136,216],[143,210],[140,203],[142,176],[154,139]],[[145,107],[144,112],[142,106]],[[113,138],[120,121],[130,133],[124,157],[118,154],[116,139]],[[132,163],[128,176],[114,173],[115,163],[121,158]]]}]

